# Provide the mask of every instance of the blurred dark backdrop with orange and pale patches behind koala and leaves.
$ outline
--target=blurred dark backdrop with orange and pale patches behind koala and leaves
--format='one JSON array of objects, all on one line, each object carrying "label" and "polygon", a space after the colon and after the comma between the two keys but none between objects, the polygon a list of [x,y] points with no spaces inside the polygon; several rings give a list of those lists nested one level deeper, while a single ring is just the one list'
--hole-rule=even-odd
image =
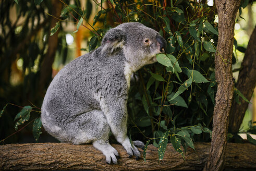
[{"label": "blurred dark backdrop with orange and pale patches behind koala and leaves", "polygon": [[[159,16],[166,15],[164,9],[168,9],[168,6],[173,10],[173,16],[170,16],[170,18],[178,18],[180,14],[183,15],[184,13],[183,18],[181,17],[181,19],[184,19],[186,23],[181,19],[180,21],[169,19],[169,26],[171,26],[170,31],[175,32],[178,30],[181,33],[184,42],[188,40],[188,37],[186,37],[186,33],[183,34],[181,32],[182,29],[181,27],[179,28],[179,25],[184,25],[185,29],[182,31],[186,30],[188,22],[194,20],[193,17],[196,14],[201,16],[200,19],[207,17],[209,22],[211,21],[215,28],[216,22],[218,22],[213,1],[167,2],[139,0],[45,0],[43,2],[41,1],[42,3],[37,1],[40,5],[36,5],[34,2],[36,1],[2,0],[0,2],[0,109],[4,108],[6,104],[11,103],[6,107],[3,116],[0,118],[0,140],[5,139],[16,132],[14,127],[14,118],[21,111],[23,106],[30,105],[34,107],[35,110],[35,112],[31,113],[30,120],[18,127],[19,129],[22,129],[15,133],[15,135],[7,138],[4,143],[35,142],[32,134],[32,121],[40,116],[40,112],[36,111],[40,111],[44,94],[51,80],[54,78],[57,72],[71,60],[86,54],[93,50],[93,48],[99,46],[102,36],[104,36],[104,33],[108,29],[117,26],[121,22],[138,21],[144,23],[146,26],[160,31],[167,40],[169,35],[167,36],[165,29],[167,26],[166,20],[163,20],[163,18]],[[236,45],[234,43],[233,69],[240,68],[250,35],[256,24],[256,3],[247,1],[247,4],[248,5],[246,5],[244,8],[240,8],[240,14],[239,12],[237,14],[237,22],[235,25]],[[179,9],[181,9],[183,12],[177,13]],[[161,15],[157,14],[158,10]],[[177,10],[176,13],[175,10]],[[203,11],[204,14],[198,14],[198,10]],[[99,13],[99,11],[101,11],[101,13]],[[81,16],[84,18],[83,26],[79,27],[77,23]],[[200,20],[194,20],[194,23],[199,25]],[[78,27],[79,29],[77,30]],[[205,32],[210,36],[210,32],[207,32],[207,30]],[[51,35],[51,33],[53,35]],[[93,37],[95,37],[94,41],[92,39]],[[213,43],[216,45],[216,36],[212,39],[215,41]],[[179,45],[179,42],[176,41],[175,43],[177,46]],[[89,44],[91,44],[93,47],[89,47]],[[195,53],[193,49],[191,49],[191,52],[192,54]],[[179,56],[179,49],[176,48],[172,54],[174,54],[175,57]],[[210,79],[211,73],[213,72],[213,69],[211,68],[214,67],[214,53],[209,54],[209,59],[201,60],[200,63],[200,66],[203,66],[205,63],[205,66],[210,68],[210,71],[206,72],[204,75],[207,79]],[[182,55],[180,60],[183,60]],[[200,56],[201,55],[203,56],[203,52],[200,53]],[[184,59],[184,61],[185,60],[189,59]],[[189,68],[190,63],[187,62],[187,64],[184,61],[179,61],[180,66]],[[211,66],[208,66],[208,64],[206,65],[206,63],[209,65],[211,64]],[[164,71],[162,72],[161,69],[157,68],[160,68],[159,64],[142,69],[142,78],[144,78],[145,82],[148,82],[150,78],[150,74],[147,72],[149,70],[162,73],[164,77]],[[238,73],[239,71],[234,72],[235,78],[238,77]],[[181,80],[186,79],[185,76],[179,76]],[[177,75],[172,77],[175,77],[174,80],[179,80]],[[143,84],[132,84],[133,87],[131,87],[131,99],[129,102],[136,99],[136,102],[143,104],[143,93],[136,93],[138,91],[142,91]],[[157,85],[157,81],[155,81],[155,84]],[[162,84],[160,83],[160,86],[161,85]],[[163,85],[163,87],[164,86],[165,85]],[[174,86],[174,89],[175,88],[177,89],[178,87]],[[155,86],[155,89],[158,89],[157,86]],[[194,89],[196,88],[193,88],[193,90],[191,88],[191,91],[198,92],[198,90]],[[204,90],[204,88],[200,89]],[[207,89],[205,88],[205,90],[205,93],[207,94]],[[162,89],[159,90],[159,95],[161,95],[161,91]],[[152,87],[149,88],[147,92],[152,96],[152,99],[153,96],[157,96],[157,91],[155,91]],[[256,92],[256,90],[254,92]],[[156,94],[156,96],[154,94]],[[173,118],[177,113],[181,113],[181,115],[177,114],[179,115],[178,118],[180,118],[180,120],[177,119],[178,125],[188,126],[189,124],[193,125],[196,123],[211,129],[212,120],[210,118],[212,117],[214,106],[211,103],[211,97],[208,95],[204,96],[209,100],[206,104],[202,102],[206,106],[206,109],[208,109],[206,110],[205,107],[200,107],[201,103],[197,103],[199,106],[198,108],[194,107],[195,105],[191,105],[190,101],[187,100],[189,99],[189,95],[192,97],[192,100],[193,98],[198,98],[196,93],[187,93],[182,95],[188,104],[188,109],[185,110],[180,106],[172,106],[172,108],[170,108],[172,110],[172,116],[169,117]],[[144,110],[145,106],[134,106],[133,104],[136,102],[128,103],[128,110],[132,117],[135,117],[130,119],[130,128],[136,128],[136,130],[130,129],[132,130],[130,135],[140,137],[140,133],[143,133],[145,137],[154,137],[155,135],[152,135],[152,129],[150,127],[151,123],[149,122],[148,118],[143,120],[144,122],[141,123],[134,122],[136,119],[138,119],[137,116],[133,116],[136,113],[139,113],[139,115],[143,117],[147,116],[147,112]],[[248,129],[251,129],[252,121],[256,121],[256,95],[252,97],[251,102],[254,103],[249,104],[245,118],[243,119],[243,123],[239,130],[240,132],[245,132]],[[190,107],[194,107],[194,109],[190,110]],[[138,108],[142,108],[143,111],[140,111]],[[201,110],[201,112],[194,113],[202,114],[200,114],[200,116],[192,114],[190,111],[193,110]],[[157,109],[153,111],[157,113]],[[167,115],[167,113],[168,111],[162,116],[165,114]],[[187,115],[185,113],[191,114]],[[206,113],[208,114],[207,116]],[[157,118],[156,116],[159,116],[159,114],[155,114],[154,118]],[[189,121],[184,118],[191,118],[191,120]],[[160,120],[156,120],[156,122],[161,122]],[[23,128],[23,126],[26,127]],[[158,126],[157,131],[165,129],[166,126],[168,128],[171,127],[168,120],[165,120],[164,126]],[[47,135],[43,129],[42,132],[43,133],[40,136],[39,142],[58,142],[53,137]],[[159,135],[161,135],[161,132],[159,132]],[[145,141],[145,138],[141,139]],[[193,139],[210,141],[209,136],[205,135]]]}]

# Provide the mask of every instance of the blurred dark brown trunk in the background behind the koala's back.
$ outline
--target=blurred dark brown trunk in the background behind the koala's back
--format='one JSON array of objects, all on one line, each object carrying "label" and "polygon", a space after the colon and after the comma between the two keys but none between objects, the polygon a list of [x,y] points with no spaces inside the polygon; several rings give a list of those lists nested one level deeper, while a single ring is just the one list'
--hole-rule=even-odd
[{"label": "blurred dark brown trunk in the background behind the koala's back", "polygon": [[[52,0],[52,9],[53,9],[53,16],[59,17],[60,13],[62,11],[62,3],[60,1]],[[53,28],[56,25],[56,22],[58,20],[56,18],[51,19],[50,23],[50,29]],[[49,30],[50,34],[50,30]],[[43,89],[44,87],[47,87],[46,83],[49,78],[51,78],[52,75],[52,65],[54,62],[55,53],[57,51],[58,46],[58,31],[53,34],[52,36],[49,36],[48,39],[48,49],[47,53],[45,54],[45,58],[43,60],[41,70],[40,70],[40,80],[39,80],[39,87],[38,92],[44,94]]]}]

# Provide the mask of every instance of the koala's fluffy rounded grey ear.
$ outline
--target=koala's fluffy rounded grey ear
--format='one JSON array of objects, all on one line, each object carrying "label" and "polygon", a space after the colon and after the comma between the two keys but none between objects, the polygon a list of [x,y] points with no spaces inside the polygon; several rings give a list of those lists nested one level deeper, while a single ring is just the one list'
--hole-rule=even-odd
[{"label": "koala's fluffy rounded grey ear", "polygon": [[111,29],[109,30],[102,42],[102,51],[111,54],[115,52],[117,48],[122,48],[126,43],[126,33],[120,29]]}]

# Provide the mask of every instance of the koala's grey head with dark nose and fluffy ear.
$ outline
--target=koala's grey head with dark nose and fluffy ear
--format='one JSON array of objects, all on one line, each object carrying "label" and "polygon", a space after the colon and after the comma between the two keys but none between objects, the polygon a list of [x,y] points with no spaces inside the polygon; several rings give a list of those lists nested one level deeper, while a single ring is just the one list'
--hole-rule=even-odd
[{"label": "koala's grey head with dark nose and fluffy ear", "polygon": [[103,53],[123,50],[126,61],[136,71],[156,62],[155,55],[166,50],[165,39],[139,22],[128,22],[109,30],[102,40]]}]

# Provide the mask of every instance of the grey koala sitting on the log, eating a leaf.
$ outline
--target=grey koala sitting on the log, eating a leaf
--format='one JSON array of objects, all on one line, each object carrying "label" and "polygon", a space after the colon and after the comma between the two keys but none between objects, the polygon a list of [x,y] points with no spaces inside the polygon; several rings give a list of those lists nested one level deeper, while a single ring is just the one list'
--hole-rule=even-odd
[{"label": "grey koala sitting on the log, eating a leaf", "polygon": [[72,60],[52,80],[43,104],[45,130],[61,142],[92,143],[117,164],[118,152],[108,142],[109,132],[129,157],[140,157],[141,141],[127,136],[127,99],[133,72],[156,62],[166,41],[138,22],[110,29],[96,50]]}]

